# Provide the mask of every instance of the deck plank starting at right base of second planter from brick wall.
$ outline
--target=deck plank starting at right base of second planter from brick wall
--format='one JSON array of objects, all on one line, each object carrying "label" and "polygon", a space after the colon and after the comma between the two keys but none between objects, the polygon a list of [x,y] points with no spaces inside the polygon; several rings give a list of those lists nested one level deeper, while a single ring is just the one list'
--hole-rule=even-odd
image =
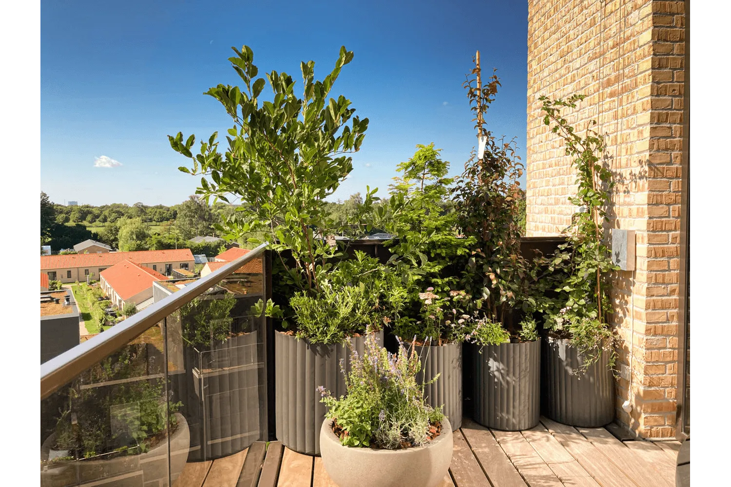
[{"label": "deck plank starting at right base of second planter from brick wall", "polygon": [[542,424],[521,432],[529,445],[548,464],[564,486],[599,487],[593,477],[582,467],[561,443]]}]

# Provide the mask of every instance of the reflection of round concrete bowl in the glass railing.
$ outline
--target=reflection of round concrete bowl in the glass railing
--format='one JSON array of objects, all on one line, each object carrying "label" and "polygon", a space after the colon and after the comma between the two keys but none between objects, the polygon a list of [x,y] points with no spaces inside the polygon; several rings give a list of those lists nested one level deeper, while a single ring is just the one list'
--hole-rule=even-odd
[{"label": "reflection of round concrete bowl in the glass railing", "polygon": [[[178,426],[170,437],[170,479],[175,481],[183,472],[188,460],[190,432],[183,415],[175,413]],[[50,445],[56,434],[51,434],[41,446],[40,459],[48,460]],[[109,483],[114,486],[141,485],[143,482],[162,481],[160,485],[169,485],[167,479],[167,441],[162,441],[155,448],[139,455],[117,456],[112,459],[83,459],[63,461],[48,469],[41,469],[39,486],[66,487],[86,482],[94,482],[95,486]],[[140,476],[141,472],[141,476]],[[129,475],[133,477],[130,478]],[[136,482],[136,483],[135,483]]]}]

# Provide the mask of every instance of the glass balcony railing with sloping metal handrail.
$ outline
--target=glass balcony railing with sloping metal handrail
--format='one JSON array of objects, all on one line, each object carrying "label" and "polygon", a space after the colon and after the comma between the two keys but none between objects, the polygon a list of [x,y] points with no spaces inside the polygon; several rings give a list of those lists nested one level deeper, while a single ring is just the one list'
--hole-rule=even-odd
[{"label": "glass balcony railing with sloping metal handrail", "polygon": [[237,273],[266,245],[39,366],[40,486],[171,486],[268,440],[267,280]]}]

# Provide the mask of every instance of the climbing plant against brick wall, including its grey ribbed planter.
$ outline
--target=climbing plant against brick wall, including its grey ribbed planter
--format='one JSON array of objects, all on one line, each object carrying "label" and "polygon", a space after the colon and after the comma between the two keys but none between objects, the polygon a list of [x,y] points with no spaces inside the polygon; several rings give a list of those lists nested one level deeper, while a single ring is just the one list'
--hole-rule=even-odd
[{"label": "climbing plant against brick wall, including its grey ribbed planter", "polygon": [[545,414],[572,426],[604,426],[614,418],[613,365],[616,352],[608,318],[609,276],[618,269],[607,247],[605,222],[613,187],[602,165],[603,137],[591,129],[580,137],[561,116],[583,95],[566,100],[542,96],[544,123],[564,142],[577,170],[578,207],[564,231],[567,242],[553,255],[539,258],[537,309],[547,332],[543,345],[542,388]]}]

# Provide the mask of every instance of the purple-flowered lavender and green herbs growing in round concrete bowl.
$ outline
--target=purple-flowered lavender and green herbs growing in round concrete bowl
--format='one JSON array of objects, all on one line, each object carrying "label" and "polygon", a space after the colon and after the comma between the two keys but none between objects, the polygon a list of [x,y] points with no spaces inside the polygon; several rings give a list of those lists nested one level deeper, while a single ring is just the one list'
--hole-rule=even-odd
[{"label": "purple-flowered lavender and green herbs growing in round concrete bowl", "polygon": [[406,352],[402,343],[398,353],[389,353],[379,347],[374,334],[369,334],[363,356],[354,350],[350,366],[345,375],[346,396],[338,399],[324,386],[317,388],[343,445],[388,449],[420,446],[441,427],[444,415],[425,403],[423,386],[417,383],[421,362],[413,346],[412,353]]}]

